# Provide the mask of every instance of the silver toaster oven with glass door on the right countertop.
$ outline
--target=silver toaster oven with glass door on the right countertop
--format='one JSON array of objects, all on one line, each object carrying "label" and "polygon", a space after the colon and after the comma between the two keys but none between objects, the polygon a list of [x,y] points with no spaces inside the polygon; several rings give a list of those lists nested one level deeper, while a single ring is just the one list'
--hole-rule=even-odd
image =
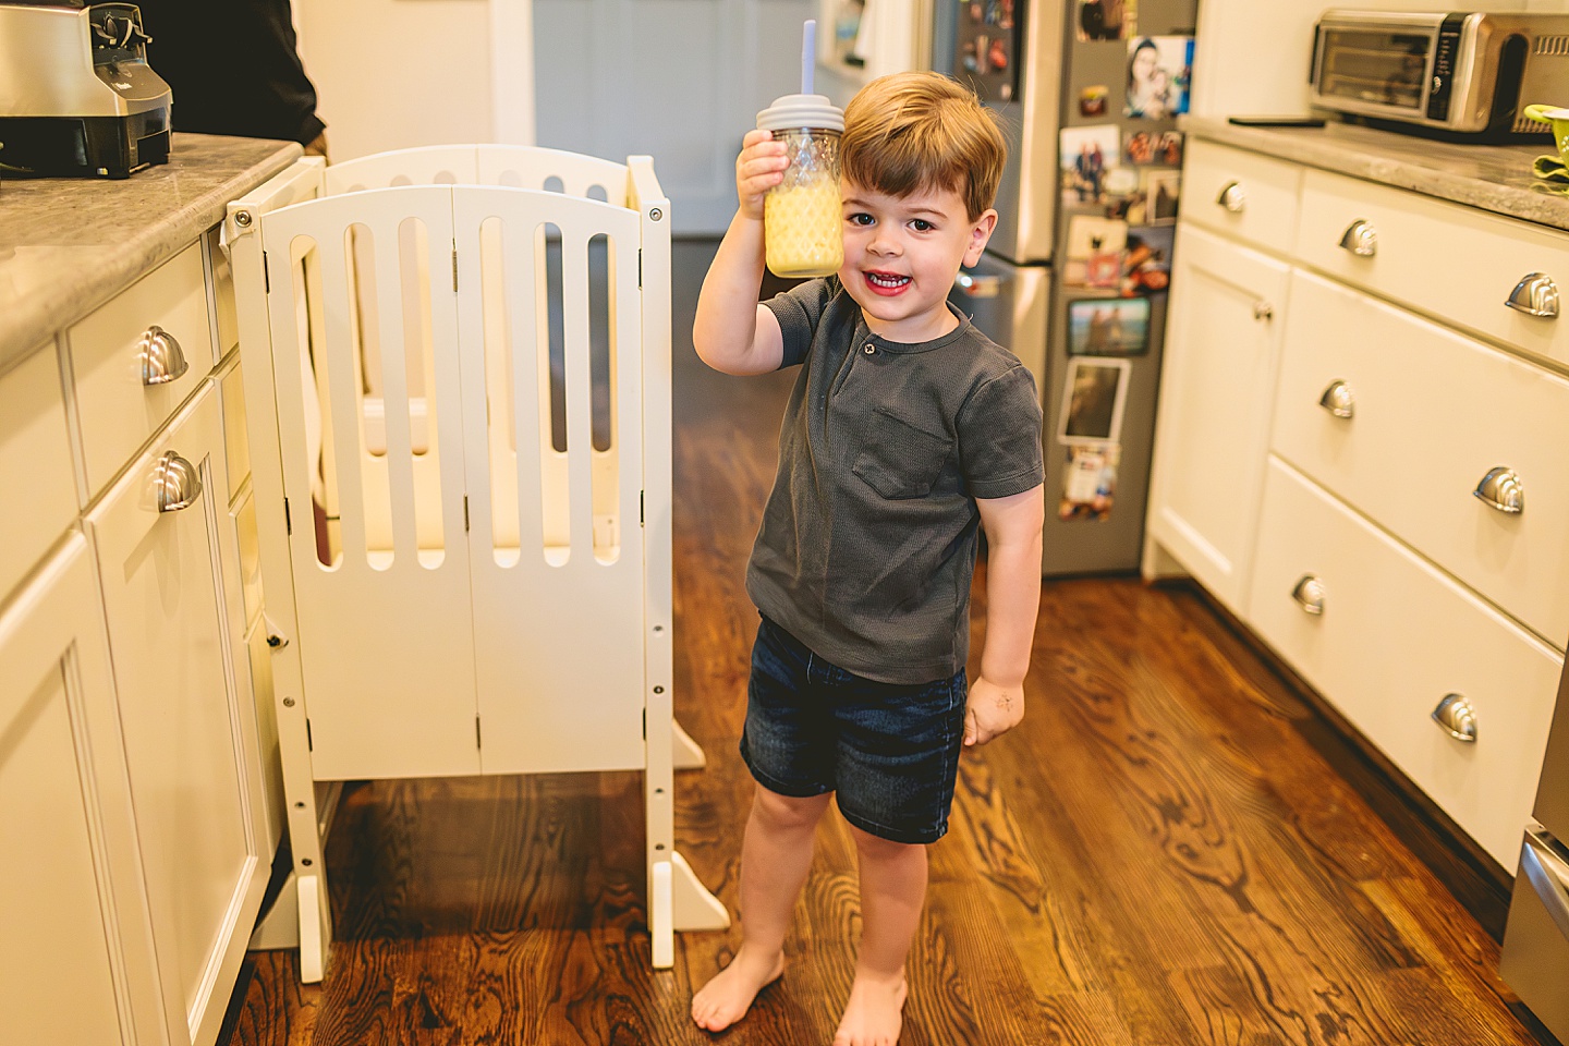
[{"label": "silver toaster oven with glass door on the right countertop", "polygon": [[1569,105],[1569,14],[1324,11],[1315,107],[1370,121],[1511,138],[1525,105]]}]

